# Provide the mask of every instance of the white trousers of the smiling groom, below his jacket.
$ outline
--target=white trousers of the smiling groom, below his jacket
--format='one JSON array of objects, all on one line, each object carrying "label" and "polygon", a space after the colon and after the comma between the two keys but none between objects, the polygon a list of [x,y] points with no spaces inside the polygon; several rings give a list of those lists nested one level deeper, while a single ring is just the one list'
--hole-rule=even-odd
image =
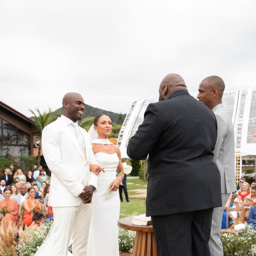
[{"label": "white trousers of the smiling groom, below his jacket", "polygon": [[53,207],[53,226],[36,256],[67,256],[72,238],[72,255],[87,256],[91,204]]}]

